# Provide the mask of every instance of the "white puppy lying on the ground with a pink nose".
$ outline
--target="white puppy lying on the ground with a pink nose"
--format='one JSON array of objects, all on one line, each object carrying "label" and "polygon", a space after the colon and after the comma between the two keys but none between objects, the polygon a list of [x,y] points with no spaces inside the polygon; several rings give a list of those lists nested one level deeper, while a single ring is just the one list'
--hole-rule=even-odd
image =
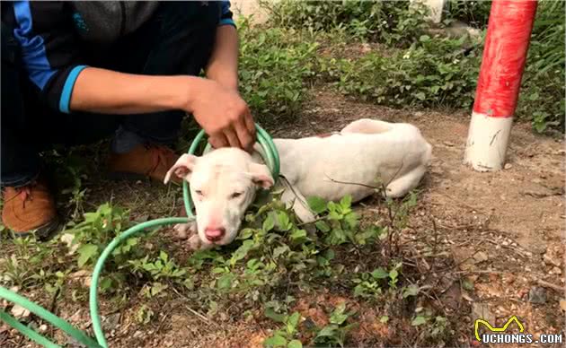
[{"label": "white puppy lying on the ground with a pink nose", "polygon": [[[274,139],[279,151],[281,199],[292,204],[303,222],[314,220],[305,197],[357,202],[376,192],[377,182],[386,195],[399,197],[419,185],[427,170],[432,147],[417,127],[372,119],[352,122],[340,133],[302,139]],[[262,149],[256,146],[256,150]],[[243,215],[258,188],[275,180],[261,156],[236,148],[221,148],[200,157],[183,154],[168,171],[190,182],[197,220],[175,226],[190,232],[192,248],[211,248],[234,240]]]}]

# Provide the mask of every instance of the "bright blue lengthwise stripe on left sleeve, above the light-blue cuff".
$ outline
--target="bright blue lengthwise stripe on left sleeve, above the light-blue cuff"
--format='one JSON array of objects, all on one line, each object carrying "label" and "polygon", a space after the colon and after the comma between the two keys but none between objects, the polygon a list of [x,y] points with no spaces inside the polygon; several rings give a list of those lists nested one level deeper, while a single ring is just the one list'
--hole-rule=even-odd
[{"label": "bright blue lengthwise stripe on left sleeve, above the light-blue cuff", "polygon": [[18,27],[13,30],[13,36],[22,47],[23,64],[30,76],[31,82],[41,90],[57,71],[49,65],[45,42],[40,35],[32,34],[31,9],[29,1],[17,1],[13,4],[13,13]]}]

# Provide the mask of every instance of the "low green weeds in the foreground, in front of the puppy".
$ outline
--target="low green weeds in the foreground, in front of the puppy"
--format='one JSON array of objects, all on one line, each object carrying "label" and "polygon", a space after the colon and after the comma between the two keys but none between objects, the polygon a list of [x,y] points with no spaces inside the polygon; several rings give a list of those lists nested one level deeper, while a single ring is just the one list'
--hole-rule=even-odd
[{"label": "low green weeds in the foreground, in front of the puppy", "polygon": [[[414,267],[405,264],[407,250],[399,242],[416,198],[411,194],[403,201],[387,200],[385,209],[392,218],[378,226],[362,222],[349,197],[340,202],[312,197],[309,204],[319,218],[304,225],[275,196],[252,207],[234,244],[190,255],[163,239],[163,231],[131,238],[106,267],[102,301],[123,311],[136,299],[138,309],[131,313],[138,325],[154,323],[163,301],[199,303],[193,308],[208,312],[208,318],[230,310],[233,319],[255,316],[274,327],[265,346],[298,347],[358,342],[354,333],[359,308],[381,308],[381,303],[394,300],[396,306],[382,311],[388,325],[403,327],[423,344],[452,342],[455,327],[447,324],[444,314],[416,306],[427,291],[421,290],[423,279]],[[86,288],[73,285],[76,274],[92,272],[100,247],[123,232],[128,221],[127,210],[103,204],[85,213],[82,222],[71,223],[66,233],[75,239],[70,245],[59,239],[47,244],[32,238],[2,239],[0,283],[27,294],[46,290],[51,295],[40,300],[44,306],[69,295],[84,303]],[[326,324],[305,325],[297,301],[329,290],[346,300],[328,309]],[[435,320],[445,325],[433,337],[426,333]]]}]

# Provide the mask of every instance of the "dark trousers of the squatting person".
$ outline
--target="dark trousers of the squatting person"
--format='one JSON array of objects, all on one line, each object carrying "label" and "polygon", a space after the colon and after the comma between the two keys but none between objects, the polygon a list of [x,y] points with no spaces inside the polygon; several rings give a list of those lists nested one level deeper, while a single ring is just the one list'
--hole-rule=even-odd
[{"label": "dark trousers of the squatting person", "polygon": [[[214,46],[219,4],[164,2],[135,33],[111,47],[84,48],[81,62],[130,74],[198,75]],[[89,144],[126,130],[147,142],[172,144],[184,112],[143,115],[64,114],[49,109],[25,74],[13,31],[2,25],[1,182],[23,186],[40,172],[40,152],[54,144]]]}]

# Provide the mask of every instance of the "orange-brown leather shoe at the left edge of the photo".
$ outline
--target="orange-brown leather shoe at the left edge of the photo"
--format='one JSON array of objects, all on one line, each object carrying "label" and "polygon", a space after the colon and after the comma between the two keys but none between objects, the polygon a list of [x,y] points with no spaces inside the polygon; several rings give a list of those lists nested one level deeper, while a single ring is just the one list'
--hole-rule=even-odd
[{"label": "orange-brown leather shoe at the left edge of the photo", "polygon": [[48,187],[38,180],[24,187],[4,187],[4,226],[18,237],[31,233],[45,239],[58,227],[55,201]]}]

